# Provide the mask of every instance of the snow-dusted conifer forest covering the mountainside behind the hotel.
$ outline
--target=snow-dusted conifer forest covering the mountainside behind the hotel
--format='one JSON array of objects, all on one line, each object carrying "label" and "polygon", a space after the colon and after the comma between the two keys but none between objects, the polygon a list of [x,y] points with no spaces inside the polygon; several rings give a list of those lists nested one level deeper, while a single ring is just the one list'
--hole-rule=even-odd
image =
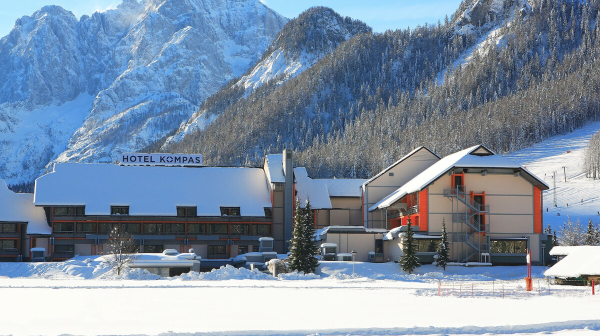
[{"label": "snow-dusted conifer forest covering the mountainside behind the hotel", "polygon": [[[202,104],[205,128],[161,150],[262,166],[288,146],[315,178],[367,178],[416,146],[443,156],[482,143],[504,154],[598,119],[599,0],[481,6],[463,1],[436,25],[356,34],[288,80],[254,90],[232,80]],[[302,41],[319,11],[277,40]]]}]

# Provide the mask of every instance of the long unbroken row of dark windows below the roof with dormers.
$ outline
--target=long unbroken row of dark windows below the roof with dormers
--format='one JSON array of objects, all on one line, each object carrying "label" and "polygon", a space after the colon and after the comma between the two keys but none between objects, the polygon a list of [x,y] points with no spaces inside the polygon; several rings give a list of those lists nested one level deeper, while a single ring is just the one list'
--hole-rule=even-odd
[{"label": "long unbroken row of dark windows below the roof with dormers", "polygon": [[[53,232],[81,232],[81,233],[110,233],[114,223],[54,223]],[[128,233],[166,234],[178,235],[191,233],[194,235],[208,235],[231,233],[232,235],[271,235],[271,224],[232,223],[188,223],[187,230],[184,223],[121,223],[121,230]],[[75,230],[74,230],[75,229]]]}]

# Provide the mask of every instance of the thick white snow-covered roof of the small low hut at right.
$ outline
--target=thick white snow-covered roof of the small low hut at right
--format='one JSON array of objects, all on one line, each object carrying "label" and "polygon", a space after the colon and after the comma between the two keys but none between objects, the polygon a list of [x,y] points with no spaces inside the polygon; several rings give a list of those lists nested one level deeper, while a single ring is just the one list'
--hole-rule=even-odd
[{"label": "thick white snow-covered roof of the small low hut at right", "polygon": [[600,246],[574,246],[569,255],[544,272],[547,277],[600,275]]}]

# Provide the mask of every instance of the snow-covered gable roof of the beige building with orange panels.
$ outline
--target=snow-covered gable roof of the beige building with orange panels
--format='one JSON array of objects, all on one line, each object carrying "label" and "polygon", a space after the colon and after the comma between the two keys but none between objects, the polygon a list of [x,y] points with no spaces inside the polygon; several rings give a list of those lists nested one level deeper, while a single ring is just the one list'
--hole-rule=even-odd
[{"label": "snow-covered gable roof of the beige building with orange panels", "polygon": [[[488,154],[488,155],[478,155],[478,154]],[[490,149],[485,148],[483,145],[476,145],[467,149],[463,149],[462,151],[455,152],[454,154],[450,154],[442,160],[437,161],[432,164],[429,168],[425,169],[422,173],[415,176],[415,178],[406,182],[403,186],[398,188],[394,193],[389,194],[384,199],[375,203],[369,211],[374,211],[377,209],[387,208],[391,206],[398,200],[402,199],[407,194],[416,193],[417,191],[423,190],[425,187],[431,184],[431,182],[435,181],[437,178],[442,176],[444,173],[455,167],[462,168],[512,168],[512,169],[520,169],[526,174],[532,176],[539,185],[542,185],[542,188],[548,189],[548,185],[539,179],[537,176],[530,173],[520,164],[515,161],[509,160],[508,158],[503,157],[502,155],[497,155],[496,153],[490,151]]]}]

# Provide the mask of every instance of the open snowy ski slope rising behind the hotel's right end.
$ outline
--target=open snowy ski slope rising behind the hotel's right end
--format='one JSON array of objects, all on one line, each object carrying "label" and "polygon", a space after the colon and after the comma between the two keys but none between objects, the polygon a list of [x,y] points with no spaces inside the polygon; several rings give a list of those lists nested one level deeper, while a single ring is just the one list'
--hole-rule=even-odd
[{"label": "open snowy ski slope rising behind the hotel's right end", "polygon": [[592,122],[573,133],[551,137],[531,148],[506,155],[550,185],[550,190],[544,191],[544,227],[550,223],[558,230],[567,215],[572,221],[580,219],[584,227],[590,218],[594,223],[600,221],[600,180],[586,178],[583,172],[583,151],[590,137],[599,130],[600,122]]}]

